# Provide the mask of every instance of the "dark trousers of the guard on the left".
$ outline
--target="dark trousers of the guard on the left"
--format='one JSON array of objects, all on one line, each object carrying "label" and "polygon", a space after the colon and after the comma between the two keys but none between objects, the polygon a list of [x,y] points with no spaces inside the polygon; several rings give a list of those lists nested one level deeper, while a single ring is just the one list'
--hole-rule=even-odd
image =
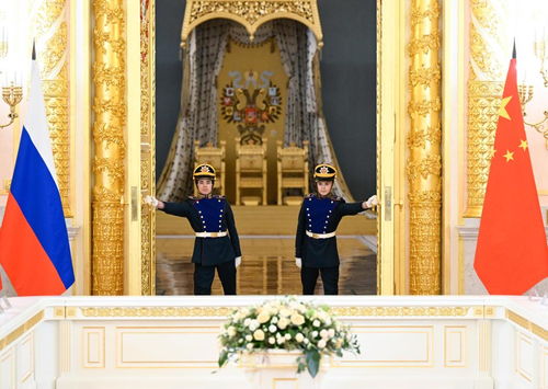
[{"label": "dark trousers of the guard on the left", "polygon": [[194,295],[210,295],[215,270],[219,275],[225,295],[236,295],[236,266],[235,261],[219,263],[213,266],[194,264]]}]

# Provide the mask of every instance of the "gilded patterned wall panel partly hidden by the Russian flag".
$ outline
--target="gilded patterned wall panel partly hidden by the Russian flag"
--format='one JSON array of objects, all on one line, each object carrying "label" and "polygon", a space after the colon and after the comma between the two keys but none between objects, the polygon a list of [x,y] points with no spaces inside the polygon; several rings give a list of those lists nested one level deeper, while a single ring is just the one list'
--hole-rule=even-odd
[{"label": "gilded patterned wall panel partly hidden by the Russian flag", "polygon": [[36,25],[36,55],[41,66],[44,102],[62,209],[66,217],[72,217],[70,204],[68,11],[68,0],[42,1],[34,23]]}]

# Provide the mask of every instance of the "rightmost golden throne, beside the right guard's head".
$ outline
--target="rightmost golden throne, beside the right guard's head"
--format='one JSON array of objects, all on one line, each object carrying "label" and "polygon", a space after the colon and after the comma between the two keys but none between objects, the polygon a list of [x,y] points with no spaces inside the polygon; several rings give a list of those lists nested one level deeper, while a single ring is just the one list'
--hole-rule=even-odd
[{"label": "rightmost golden throne, beside the right guard's head", "polygon": [[[285,190],[301,190],[301,196],[284,196]],[[277,205],[298,205],[308,193],[308,141],[302,147],[277,141]]]}]

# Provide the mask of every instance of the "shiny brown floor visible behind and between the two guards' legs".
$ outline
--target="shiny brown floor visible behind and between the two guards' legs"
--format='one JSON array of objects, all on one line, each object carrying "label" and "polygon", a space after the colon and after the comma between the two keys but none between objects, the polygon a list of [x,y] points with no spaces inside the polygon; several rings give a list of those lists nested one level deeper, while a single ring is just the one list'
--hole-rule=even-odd
[{"label": "shiny brown floor visible behind and between the two guards' legs", "polygon": [[[293,236],[240,236],[243,253],[238,270],[239,295],[298,295],[300,273],[294,263]],[[157,295],[192,295],[194,265],[190,255],[193,236],[158,236],[156,241]],[[374,295],[377,289],[377,256],[362,236],[338,237],[341,258],[339,293],[341,295]],[[218,277],[213,294],[221,295]],[[323,294],[321,279],[317,294]]]}]

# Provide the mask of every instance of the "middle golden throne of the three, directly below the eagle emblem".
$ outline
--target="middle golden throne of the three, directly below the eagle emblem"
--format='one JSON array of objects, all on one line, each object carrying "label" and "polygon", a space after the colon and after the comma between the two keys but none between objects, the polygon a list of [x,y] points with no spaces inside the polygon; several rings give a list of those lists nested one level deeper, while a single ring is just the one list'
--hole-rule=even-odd
[{"label": "middle golden throne of the three, directly below the eagle emblem", "polygon": [[[266,205],[266,138],[262,144],[241,144],[236,138],[236,204]],[[254,190],[260,197],[242,197],[242,191]]]}]

